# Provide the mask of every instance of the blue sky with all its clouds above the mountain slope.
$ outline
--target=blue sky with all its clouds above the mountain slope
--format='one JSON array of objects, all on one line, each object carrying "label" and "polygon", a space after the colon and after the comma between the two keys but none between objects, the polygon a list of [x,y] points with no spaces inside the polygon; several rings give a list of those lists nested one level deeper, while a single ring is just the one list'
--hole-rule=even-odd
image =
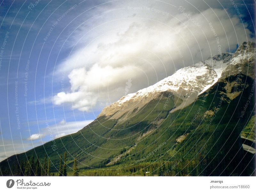
[{"label": "blue sky with all its clouds above the mountain slope", "polygon": [[77,132],[184,66],[255,41],[254,22],[251,0],[2,0],[0,161]]}]

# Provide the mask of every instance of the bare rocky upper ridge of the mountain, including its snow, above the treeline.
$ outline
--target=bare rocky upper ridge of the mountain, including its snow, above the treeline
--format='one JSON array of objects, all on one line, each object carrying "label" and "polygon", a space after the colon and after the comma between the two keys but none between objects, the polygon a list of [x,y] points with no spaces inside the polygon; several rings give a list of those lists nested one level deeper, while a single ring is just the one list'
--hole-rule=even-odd
[{"label": "bare rocky upper ridge of the mountain, including its snow, above the treeline", "polygon": [[[123,96],[119,101],[105,107],[98,117],[106,116],[113,119],[118,119],[121,116],[123,118],[127,117],[132,111],[139,111],[149,101],[156,99],[166,91],[182,98],[188,105],[194,102],[198,95],[204,93],[219,81],[220,78],[223,79],[225,75],[229,76],[230,73],[238,73],[239,70],[246,70],[244,62],[247,62],[249,66],[254,56],[255,43],[244,42],[238,47],[235,54],[223,52],[214,57],[209,57],[204,62],[200,61],[195,65],[179,69],[173,75],[148,88]],[[254,67],[254,65],[251,66]],[[253,73],[251,70],[251,68],[248,70],[249,73]],[[250,75],[249,73],[248,75]],[[176,110],[184,107],[184,102],[180,104],[180,107],[177,106]]]}]

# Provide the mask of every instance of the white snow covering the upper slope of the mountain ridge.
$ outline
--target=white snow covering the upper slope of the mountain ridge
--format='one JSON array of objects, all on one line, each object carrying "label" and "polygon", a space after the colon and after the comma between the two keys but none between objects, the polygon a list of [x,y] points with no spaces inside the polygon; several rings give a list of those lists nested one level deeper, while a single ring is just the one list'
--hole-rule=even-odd
[{"label": "white snow covering the upper slope of the mountain ridge", "polygon": [[123,96],[117,103],[122,105],[127,101],[137,100],[151,93],[167,90],[175,91],[183,96],[189,96],[191,93],[201,94],[218,81],[222,71],[229,64],[227,60],[224,60],[227,57],[231,58],[231,54],[223,53],[222,55],[208,58],[205,62],[200,61],[195,65],[181,68],[173,75],[164,78],[152,86]]}]

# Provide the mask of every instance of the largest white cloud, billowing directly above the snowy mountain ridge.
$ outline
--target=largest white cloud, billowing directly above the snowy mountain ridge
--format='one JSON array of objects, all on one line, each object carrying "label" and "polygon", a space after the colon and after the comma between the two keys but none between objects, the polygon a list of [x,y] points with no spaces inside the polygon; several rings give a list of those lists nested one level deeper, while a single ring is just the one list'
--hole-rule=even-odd
[{"label": "largest white cloud, billowing directly above the snowy mountain ridge", "polygon": [[[110,104],[122,97],[128,79],[132,80],[128,93],[135,92],[184,65],[218,54],[219,47],[228,51],[235,49],[237,43],[252,40],[251,32],[244,29],[240,19],[229,16],[225,10],[195,13],[186,9],[188,18],[178,7],[175,9],[178,12],[175,17],[161,15],[158,20],[129,20],[125,30],[111,32],[111,37],[110,33],[102,33],[97,41],[76,50],[58,68],[59,72],[65,68],[69,73],[70,90],[55,95],[53,103],[69,103],[73,109],[90,111],[96,105]],[[110,26],[116,29],[119,22],[116,25]]]}]

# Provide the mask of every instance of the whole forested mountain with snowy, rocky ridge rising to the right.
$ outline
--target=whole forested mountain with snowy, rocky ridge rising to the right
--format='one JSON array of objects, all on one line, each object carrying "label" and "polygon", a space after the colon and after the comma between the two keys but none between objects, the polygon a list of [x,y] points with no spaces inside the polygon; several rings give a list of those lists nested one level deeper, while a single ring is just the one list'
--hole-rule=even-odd
[{"label": "whole forested mountain with snowy, rocky ridge rising to the right", "polygon": [[58,174],[67,152],[81,175],[253,175],[254,59],[255,43],[244,42],[184,67],[105,107],[77,133],[5,159],[1,173],[33,175],[28,159],[43,165],[47,155]]}]

